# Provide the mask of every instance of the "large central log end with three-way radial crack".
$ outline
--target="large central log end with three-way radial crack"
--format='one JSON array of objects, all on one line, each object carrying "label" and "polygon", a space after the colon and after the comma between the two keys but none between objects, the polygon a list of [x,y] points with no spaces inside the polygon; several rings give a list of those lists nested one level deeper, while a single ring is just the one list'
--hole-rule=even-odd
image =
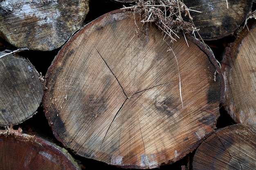
[{"label": "large central log end with three-way radial crack", "polygon": [[47,71],[43,107],[55,137],[77,155],[155,168],[214,132],[223,77],[202,43],[180,35],[170,47],[135,16],[112,11],[72,37]]}]

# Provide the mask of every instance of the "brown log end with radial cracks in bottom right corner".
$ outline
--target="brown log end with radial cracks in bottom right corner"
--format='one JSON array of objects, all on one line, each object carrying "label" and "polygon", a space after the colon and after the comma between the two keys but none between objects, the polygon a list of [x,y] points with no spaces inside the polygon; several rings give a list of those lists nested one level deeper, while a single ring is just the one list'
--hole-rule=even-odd
[{"label": "brown log end with radial cracks in bottom right corner", "polygon": [[202,142],[193,158],[193,170],[253,170],[255,160],[256,129],[235,124]]}]

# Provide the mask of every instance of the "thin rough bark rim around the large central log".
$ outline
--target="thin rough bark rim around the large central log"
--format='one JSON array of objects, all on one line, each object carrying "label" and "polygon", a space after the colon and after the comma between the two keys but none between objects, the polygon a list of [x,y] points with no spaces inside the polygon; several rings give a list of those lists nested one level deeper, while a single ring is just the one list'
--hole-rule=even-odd
[{"label": "thin rough bark rim around the large central log", "polygon": [[[61,50],[58,52],[58,54],[55,56],[54,60],[52,61],[51,66],[48,68],[47,74],[46,74],[45,78],[47,79],[51,75],[51,72],[52,72],[52,69],[53,69],[52,65],[53,65],[54,61],[58,61],[60,57],[63,57],[63,56],[61,56],[59,54],[61,54],[61,53],[63,53],[63,51],[65,51],[65,49],[70,45],[70,43],[72,43],[73,39],[76,39],[76,37],[78,37],[80,34],[82,34],[83,32],[86,32],[87,28],[90,28],[90,26],[94,25],[94,23],[97,23],[97,22],[99,22],[99,20],[103,20],[105,17],[108,17],[108,16],[110,16],[112,14],[123,13],[123,15],[122,15],[123,18],[130,17],[130,15],[128,15],[128,16],[125,15],[126,13],[130,13],[130,12],[131,11],[125,11],[125,10],[122,10],[122,9],[117,9],[117,10],[114,10],[114,11],[110,11],[109,13],[106,13],[104,15],[101,15],[100,17],[96,18],[92,22],[86,24],[83,28],[80,29],[80,31],[78,31],[76,34],[74,34],[73,37],[71,37],[69,39],[69,41],[67,41],[67,43],[63,46],[63,48],[61,48]],[[133,13],[133,12],[131,12],[131,13]],[[135,29],[136,28],[137,27],[135,25]],[[136,33],[136,31],[135,31],[135,33]],[[220,103],[221,103],[222,100],[223,100],[223,94],[224,94],[224,81],[223,81],[223,76],[222,76],[222,73],[221,73],[221,70],[220,70],[220,66],[218,65],[219,64],[218,61],[214,57],[214,54],[211,51],[211,49],[209,49],[204,43],[202,43],[202,41],[200,41],[199,39],[196,39],[194,37],[191,37],[191,36],[187,36],[187,38],[192,43],[197,45],[202,50],[202,52],[204,52],[207,55],[207,57],[208,57],[209,61],[211,62],[211,64],[213,64],[213,66],[216,68],[216,70],[218,72],[218,78],[220,80],[220,86],[221,86],[220,87]],[[65,60],[64,60],[64,62],[65,62]],[[56,76],[56,75],[54,75],[54,76]],[[45,93],[45,95],[47,95],[47,93]],[[43,98],[45,98],[45,95],[44,95]],[[44,107],[44,111],[45,111],[45,116],[46,116],[46,118],[48,120],[48,123],[49,123],[49,125],[50,125],[50,127],[51,127],[51,129],[53,131],[54,136],[56,137],[56,139],[59,142],[61,142],[61,144],[63,146],[67,147],[67,145],[61,140],[61,137],[59,137],[58,134],[56,133],[56,131],[54,130],[54,127],[51,126],[53,124],[53,122],[52,122],[50,116],[48,115],[47,106],[43,106],[43,107]],[[54,109],[54,110],[56,110],[56,109]],[[215,126],[215,127],[216,127],[217,120],[218,120],[218,117],[216,117],[216,120],[213,123],[213,126]],[[171,165],[171,164],[175,163],[176,161],[179,161],[179,160],[183,159],[189,153],[192,153],[205,139],[207,139],[214,132],[215,132],[215,130],[213,128],[212,133],[205,134],[205,136],[202,139],[200,139],[197,142],[195,142],[190,148],[185,150],[184,153],[179,154],[179,157],[171,159],[171,160],[168,160],[168,161],[165,161],[165,162],[162,162],[162,163],[158,163],[157,165],[154,165],[152,167],[140,167],[140,166],[135,166],[135,165],[126,165],[126,166],[113,165],[113,166],[118,167],[118,168],[124,168],[124,169],[129,169],[129,168],[135,168],[135,169],[148,169],[149,168],[149,169],[152,169],[152,168],[159,168],[159,166]],[[70,148],[70,150],[73,153],[76,154],[76,152],[74,150],[72,150],[72,148]]]}]

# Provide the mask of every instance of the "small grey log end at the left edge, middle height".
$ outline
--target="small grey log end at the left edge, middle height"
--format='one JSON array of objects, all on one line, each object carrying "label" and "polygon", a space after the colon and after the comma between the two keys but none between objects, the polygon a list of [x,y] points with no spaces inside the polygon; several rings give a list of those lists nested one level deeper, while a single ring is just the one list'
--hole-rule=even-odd
[{"label": "small grey log end at the left edge, middle height", "polygon": [[[4,56],[4,52],[1,53]],[[34,66],[13,54],[0,56],[0,126],[30,118],[43,98],[43,84]]]}]

